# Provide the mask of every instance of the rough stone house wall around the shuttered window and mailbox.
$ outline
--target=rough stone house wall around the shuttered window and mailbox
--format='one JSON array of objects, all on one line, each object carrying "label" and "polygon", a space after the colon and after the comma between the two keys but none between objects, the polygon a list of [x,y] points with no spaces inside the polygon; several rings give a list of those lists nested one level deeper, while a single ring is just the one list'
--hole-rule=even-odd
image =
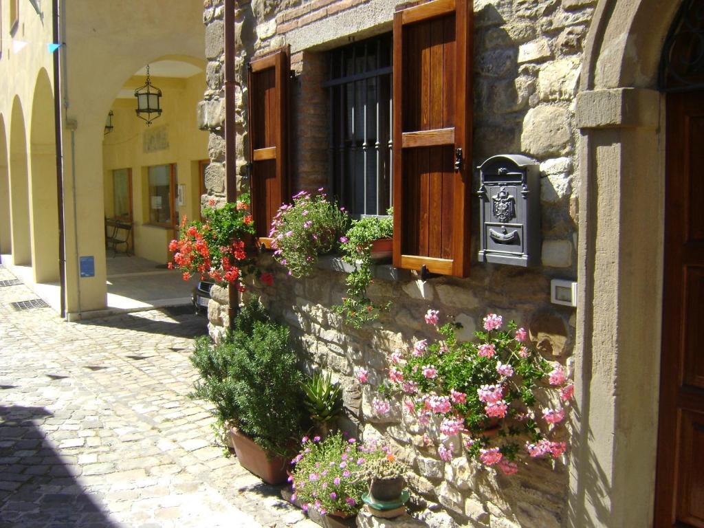
[{"label": "rough stone house wall around the shuttered window and mailbox", "polygon": [[[253,0],[237,3],[237,155],[239,185],[246,188],[247,151],[245,65],[256,53],[291,46],[294,191],[327,182],[327,99],[325,51],[391,30],[398,0]],[[567,470],[558,461],[533,464],[513,477],[468,465],[458,456],[444,463],[422,443],[400,413],[379,421],[370,413],[370,389],[353,377],[370,370],[373,384],[384,377],[385,357],[428,335],[422,315],[441,310],[463,324],[463,337],[488,312],[501,313],[530,329],[543,355],[572,372],[574,310],[550,303],[550,279],[575,279],[577,237],[577,127],[574,99],[582,46],[593,0],[475,0],[474,165],[496,153],[526,153],[541,163],[542,265],[513,268],[476,261],[478,217],[472,220],[471,275],[422,281],[412,274],[370,288],[375,301],[394,302],[389,313],[360,331],[344,327],[330,307],[344,295],[344,273],[321,267],[295,280],[270,255],[261,265],[275,272],[274,287],[258,294],[281,321],[291,325],[309,366],[334,372],[345,387],[344,426],[365,437],[383,435],[413,467],[411,484],[425,501],[430,524],[453,522],[491,527],[558,527],[567,511]],[[222,140],[222,0],[205,2],[208,92],[201,124],[210,128],[208,194],[224,197]],[[477,188],[475,181],[473,187]],[[227,294],[213,289],[208,315],[213,334],[227,325]],[[394,416],[392,414],[392,416]],[[446,524],[443,524],[446,523]]]}]

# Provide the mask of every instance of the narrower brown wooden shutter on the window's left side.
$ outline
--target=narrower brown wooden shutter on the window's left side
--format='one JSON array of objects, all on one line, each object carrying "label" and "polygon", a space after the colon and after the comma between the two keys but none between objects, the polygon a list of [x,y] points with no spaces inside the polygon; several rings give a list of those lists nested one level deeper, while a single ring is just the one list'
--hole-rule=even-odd
[{"label": "narrower brown wooden shutter on the window's left side", "polygon": [[269,230],[279,206],[287,201],[289,49],[249,63],[249,161],[252,215],[256,235],[269,247]]}]

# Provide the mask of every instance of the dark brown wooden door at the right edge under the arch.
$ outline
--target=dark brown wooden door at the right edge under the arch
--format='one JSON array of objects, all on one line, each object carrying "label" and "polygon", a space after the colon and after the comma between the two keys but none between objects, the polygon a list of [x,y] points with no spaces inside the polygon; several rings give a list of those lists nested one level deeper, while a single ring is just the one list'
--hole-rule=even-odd
[{"label": "dark brown wooden door at the right edge under the arch", "polygon": [[704,527],[704,92],[667,96],[655,527]]}]

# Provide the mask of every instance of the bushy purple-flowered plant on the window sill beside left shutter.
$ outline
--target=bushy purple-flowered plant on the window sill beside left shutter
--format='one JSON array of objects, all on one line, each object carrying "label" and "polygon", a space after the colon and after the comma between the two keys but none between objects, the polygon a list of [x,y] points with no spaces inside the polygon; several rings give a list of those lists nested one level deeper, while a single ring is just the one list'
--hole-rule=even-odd
[{"label": "bushy purple-flowered plant on the window sill beside left shutter", "polygon": [[289,275],[306,277],[318,255],[337,249],[348,222],[344,208],[328,201],[322,189],[315,195],[301,191],[293,197],[293,203],[282,205],[272,220],[274,257],[288,268]]}]

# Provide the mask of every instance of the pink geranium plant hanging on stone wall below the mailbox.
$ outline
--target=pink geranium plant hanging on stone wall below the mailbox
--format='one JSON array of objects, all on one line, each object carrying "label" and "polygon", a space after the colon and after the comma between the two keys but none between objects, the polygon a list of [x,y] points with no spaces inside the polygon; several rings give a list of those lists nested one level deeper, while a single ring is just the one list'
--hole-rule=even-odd
[{"label": "pink geranium plant hanging on stone wall below the mailbox", "polygon": [[[432,430],[440,458],[449,461],[455,446],[464,447],[480,463],[513,474],[523,460],[565,452],[559,424],[572,384],[561,365],[532,351],[523,328],[511,321],[504,329],[503,318],[490,313],[474,332],[478,341],[460,342],[455,325],[439,326],[437,310],[428,310],[425,321],[441,339],[395,351],[382,391],[400,395],[420,427]],[[562,403],[539,408],[536,389]]]}]

